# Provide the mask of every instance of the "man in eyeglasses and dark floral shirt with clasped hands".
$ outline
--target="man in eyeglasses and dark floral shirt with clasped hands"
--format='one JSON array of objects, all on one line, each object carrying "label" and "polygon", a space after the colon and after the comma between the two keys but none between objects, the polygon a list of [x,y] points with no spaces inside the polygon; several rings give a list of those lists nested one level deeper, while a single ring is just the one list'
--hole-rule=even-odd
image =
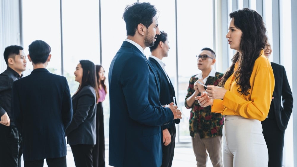
[{"label": "man in eyeglasses and dark floral shirt with clasped hands", "polygon": [[223,117],[221,114],[211,112],[211,106],[201,107],[195,97],[206,90],[206,87],[198,83],[198,81],[205,85],[217,86],[223,74],[213,68],[216,62],[216,54],[210,48],[203,48],[196,57],[198,58],[197,67],[201,70],[201,73],[190,78],[185,106],[187,109],[191,109],[189,130],[190,136],[192,136],[197,167],[206,166],[208,159],[206,150],[212,165],[222,167]]}]

